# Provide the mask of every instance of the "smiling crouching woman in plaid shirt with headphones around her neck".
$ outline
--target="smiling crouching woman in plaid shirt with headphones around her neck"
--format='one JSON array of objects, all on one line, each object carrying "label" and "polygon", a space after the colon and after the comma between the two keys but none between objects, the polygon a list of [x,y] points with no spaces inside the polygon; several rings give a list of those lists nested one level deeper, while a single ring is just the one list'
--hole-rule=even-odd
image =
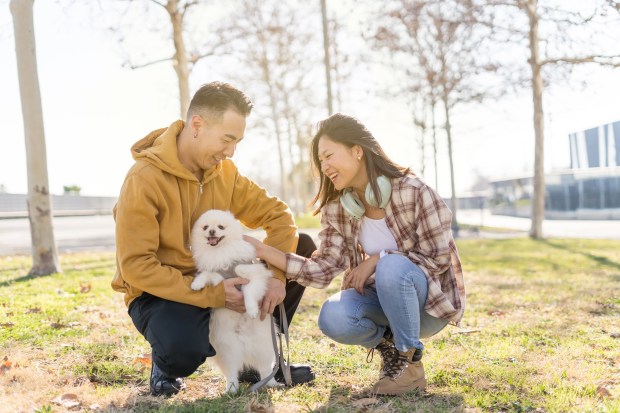
[{"label": "smiling crouching woman in plaid shirt with headphones around her neck", "polygon": [[321,245],[311,258],[284,254],[247,237],[258,258],[305,286],[342,289],[323,304],[321,331],[343,344],[378,350],[373,392],[424,389],[421,337],[463,316],[465,290],[442,198],[390,160],[362,123],[335,114],[319,123],[312,158],[320,174],[314,202]]}]

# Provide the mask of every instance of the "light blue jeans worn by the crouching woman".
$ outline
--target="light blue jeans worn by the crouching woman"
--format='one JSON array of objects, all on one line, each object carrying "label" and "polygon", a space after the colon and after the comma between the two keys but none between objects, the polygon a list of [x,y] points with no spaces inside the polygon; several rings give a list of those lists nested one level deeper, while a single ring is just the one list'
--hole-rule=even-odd
[{"label": "light blue jeans worn by the crouching woman", "polygon": [[371,348],[389,327],[398,350],[422,350],[420,337],[431,337],[448,324],[424,311],[427,292],[420,267],[402,255],[389,254],[379,260],[375,286],[367,286],[364,295],[349,288],[323,303],[319,328],[339,343]]}]

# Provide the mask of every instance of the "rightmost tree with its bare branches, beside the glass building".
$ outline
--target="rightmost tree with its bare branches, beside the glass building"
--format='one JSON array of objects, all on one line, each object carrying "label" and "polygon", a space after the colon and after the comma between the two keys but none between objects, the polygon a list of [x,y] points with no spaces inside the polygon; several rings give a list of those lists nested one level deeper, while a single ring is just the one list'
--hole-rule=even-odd
[{"label": "rightmost tree with its bare branches, beside the glass building", "polygon": [[[572,66],[581,64],[615,67],[620,65],[617,42],[612,53],[602,53],[591,37],[597,34],[594,26],[600,25],[601,20],[605,19],[605,8],[617,4],[610,0],[584,2],[576,10],[567,8],[565,3],[549,0],[540,3],[538,0],[483,0],[478,4],[480,10],[486,12],[487,20],[484,23],[492,26],[496,33],[505,35],[496,39],[519,46],[526,44],[528,48],[527,63],[530,70],[535,137],[534,194],[529,235],[534,239],[543,238],[542,223],[545,216],[545,84],[550,81],[552,67],[557,72],[558,68],[570,70]],[[516,18],[519,16],[514,16],[515,11],[517,15],[525,18]],[[525,29],[515,25],[523,20],[526,22]],[[542,34],[541,25],[545,28]],[[606,26],[601,25],[599,29],[604,27]],[[584,42],[584,30],[590,33],[587,44],[576,50],[575,46]],[[598,34],[601,34],[600,30]]]}]

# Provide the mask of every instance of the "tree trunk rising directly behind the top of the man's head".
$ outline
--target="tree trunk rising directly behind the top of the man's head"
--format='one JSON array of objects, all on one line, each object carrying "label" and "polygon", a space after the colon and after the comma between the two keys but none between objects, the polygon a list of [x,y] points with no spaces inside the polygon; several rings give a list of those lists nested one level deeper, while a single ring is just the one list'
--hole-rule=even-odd
[{"label": "tree trunk rising directly behind the top of the man's head", "polygon": [[189,75],[190,68],[183,39],[183,12],[179,10],[178,0],[169,0],[166,3],[166,11],[172,22],[172,40],[174,42],[174,70],[179,79],[179,101],[181,103],[181,119],[187,116],[189,108]]}]

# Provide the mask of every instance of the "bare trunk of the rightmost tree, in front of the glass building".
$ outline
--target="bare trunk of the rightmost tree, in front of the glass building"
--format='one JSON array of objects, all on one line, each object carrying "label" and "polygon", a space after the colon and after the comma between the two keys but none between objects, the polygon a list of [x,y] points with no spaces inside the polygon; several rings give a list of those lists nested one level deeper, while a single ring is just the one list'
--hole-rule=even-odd
[{"label": "bare trunk of the rightmost tree, in front of the glass building", "polygon": [[530,237],[540,239],[545,217],[545,120],[543,112],[543,79],[538,50],[537,0],[527,0],[526,11],[530,22],[530,67],[532,69],[532,98],[534,101],[534,199]]}]

